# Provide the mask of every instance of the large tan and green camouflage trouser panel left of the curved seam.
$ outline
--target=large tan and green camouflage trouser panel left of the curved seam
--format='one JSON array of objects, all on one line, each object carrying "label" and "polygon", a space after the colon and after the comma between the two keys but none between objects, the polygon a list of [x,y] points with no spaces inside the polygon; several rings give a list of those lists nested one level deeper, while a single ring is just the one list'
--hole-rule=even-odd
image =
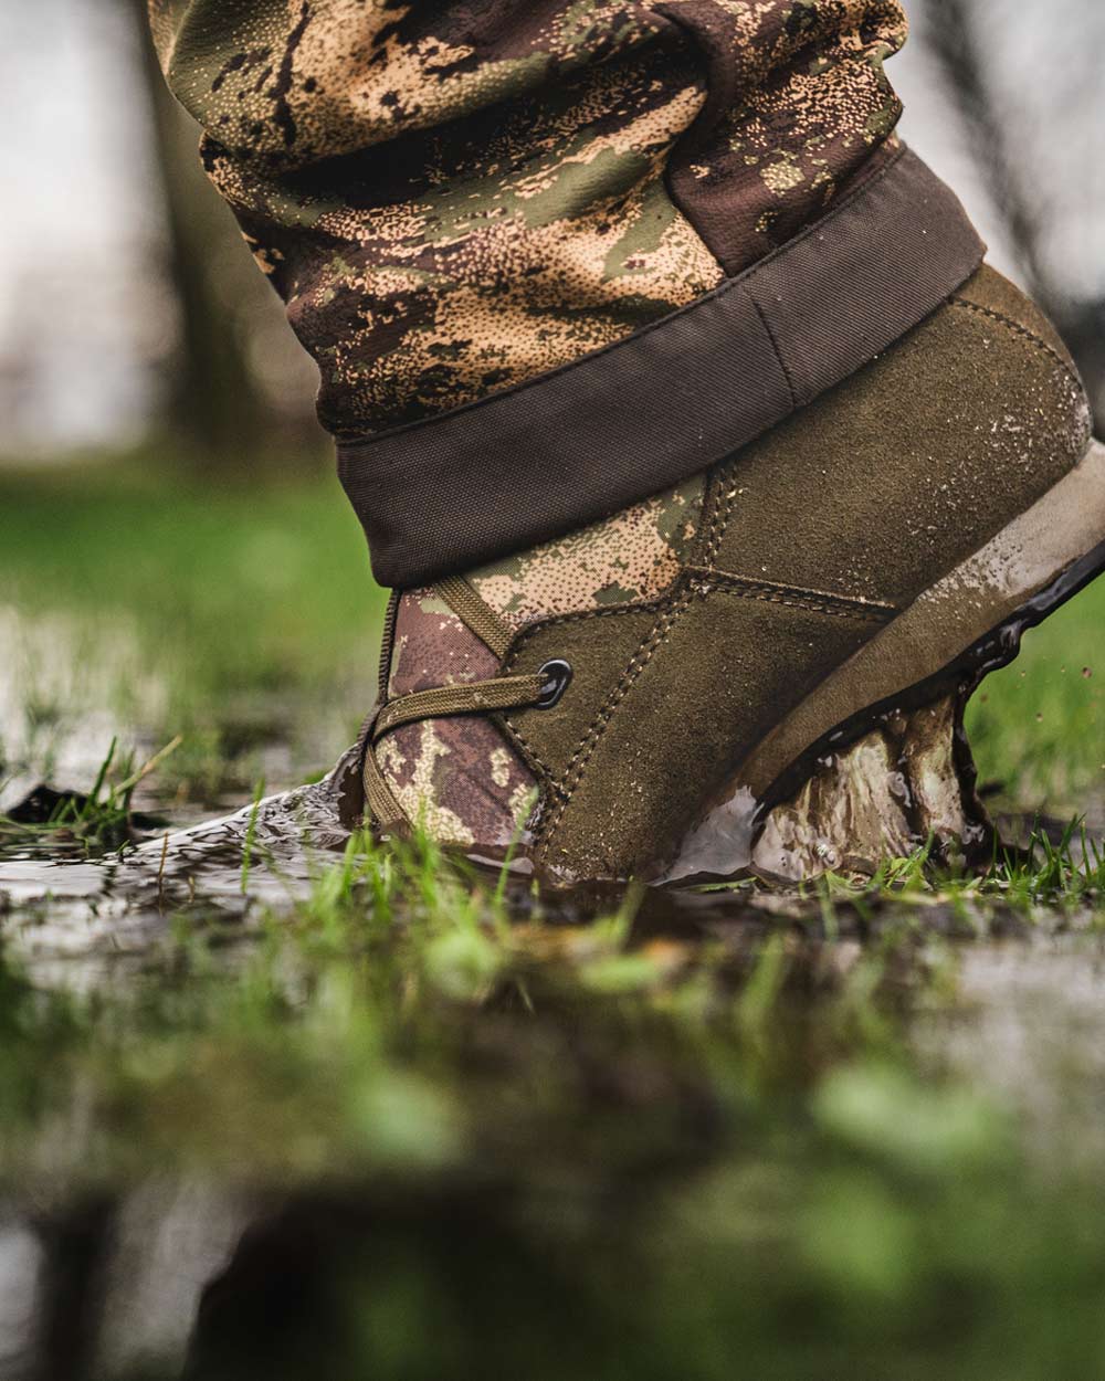
[{"label": "large tan and green camouflage trouser panel left of the curved seam", "polygon": [[722,276],[664,186],[700,73],[642,6],[184,14],[170,81],[337,435],[577,359]]}]

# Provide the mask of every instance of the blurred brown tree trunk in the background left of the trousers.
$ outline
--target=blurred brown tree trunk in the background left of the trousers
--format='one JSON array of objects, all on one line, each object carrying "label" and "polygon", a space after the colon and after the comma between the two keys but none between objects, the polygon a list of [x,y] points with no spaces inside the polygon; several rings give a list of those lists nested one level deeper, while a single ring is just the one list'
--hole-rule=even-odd
[{"label": "blurred brown tree trunk in the background left of the trousers", "polygon": [[[180,313],[164,423],[196,470],[233,474],[289,458],[314,468],[320,432],[314,367],[257,271],[229,209],[199,160],[199,130],[170,94],[146,25],[145,0],[130,11],[149,93],[153,149],[166,224],[166,275]],[[269,388],[257,362],[269,366]]]}]

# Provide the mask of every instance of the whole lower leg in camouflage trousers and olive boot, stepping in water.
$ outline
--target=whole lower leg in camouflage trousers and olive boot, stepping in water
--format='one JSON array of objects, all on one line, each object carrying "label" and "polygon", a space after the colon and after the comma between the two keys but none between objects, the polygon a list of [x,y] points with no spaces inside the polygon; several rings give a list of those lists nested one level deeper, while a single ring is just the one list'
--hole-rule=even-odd
[{"label": "whole lower leg in camouflage trousers and olive boot, stepping in water", "polygon": [[970,833],[959,706],[1095,569],[1099,460],[895,134],[898,0],[151,18],[402,591],[312,836],[366,794],[622,878]]}]

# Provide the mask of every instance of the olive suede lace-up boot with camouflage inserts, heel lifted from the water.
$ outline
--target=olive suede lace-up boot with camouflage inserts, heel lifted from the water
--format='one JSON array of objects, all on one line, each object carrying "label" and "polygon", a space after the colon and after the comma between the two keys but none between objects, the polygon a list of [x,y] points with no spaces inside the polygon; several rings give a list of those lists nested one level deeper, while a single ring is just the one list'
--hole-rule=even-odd
[{"label": "olive suede lace-up boot with camouflage inserts, heel lifted from the water", "polygon": [[558,882],[794,874],[811,848],[901,852],[910,819],[953,836],[961,702],[1102,565],[1075,366],[983,267],[704,472],[396,594],[365,801]]}]

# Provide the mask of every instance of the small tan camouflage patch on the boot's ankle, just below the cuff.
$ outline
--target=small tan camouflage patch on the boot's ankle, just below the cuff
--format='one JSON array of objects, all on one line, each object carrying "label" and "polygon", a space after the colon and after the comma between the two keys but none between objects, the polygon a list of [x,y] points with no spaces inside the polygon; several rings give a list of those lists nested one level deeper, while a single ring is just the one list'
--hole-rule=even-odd
[{"label": "small tan camouflage patch on the boot's ankle, just below the cuff", "polygon": [[605,522],[470,572],[468,580],[514,627],[652,599],[689,557],[703,489],[699,475]]}]

